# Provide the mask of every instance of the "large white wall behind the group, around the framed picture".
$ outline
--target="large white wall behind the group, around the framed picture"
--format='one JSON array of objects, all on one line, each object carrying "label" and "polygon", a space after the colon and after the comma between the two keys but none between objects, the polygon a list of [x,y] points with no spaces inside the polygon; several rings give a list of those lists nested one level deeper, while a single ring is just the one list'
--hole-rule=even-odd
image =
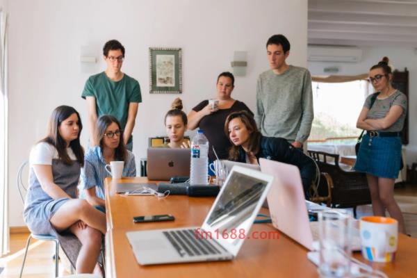
[{"label": "large white wall behind the group, around the framed picture", "polygon": [[306,0],[156,0],[56,1],[13,0],[10,12],[10,225],[22,226],[22,208],[15,174],[36,140],[44,136],[51,111],[60,104],[74,106],[85,124],[81,91],[90,74],[82,72],[81,47],[97,56],[106,40],[126,47],[122,70],[138,79],[142,89],[133,152],[146,156],[147,138],[163,135],[163,116],[177,95],[149,95],[149,47],[183,49],[183,99],[186,112],[215,96],[215,79],[236,50],[247,51],[247,75],[236,79],[233,97],[255,108],[257,76],[268,69],[265,42],[284,33],[292,44],[288,59],[306,66]]}]

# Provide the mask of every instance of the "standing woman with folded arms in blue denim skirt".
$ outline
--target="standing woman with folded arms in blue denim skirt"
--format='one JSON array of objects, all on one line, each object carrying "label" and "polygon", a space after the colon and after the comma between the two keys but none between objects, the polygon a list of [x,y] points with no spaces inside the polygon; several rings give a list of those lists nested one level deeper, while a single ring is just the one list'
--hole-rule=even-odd
[{"label": "standing woman with folded arms in blue denim skirt", "polygon": [[[357,128],[366,130],[354,170],[365,172],[368,179],[373,213],[385,216],[388,210],[405,233],[404,218],[394,199],[394,182],[401,164],[401,131],[407,112],[407,97],[391,85],[393,73],[389,59],[373,65],[368,81],[375,93],[363,105]],[[371,99],[375,99],[371,105]]]}]

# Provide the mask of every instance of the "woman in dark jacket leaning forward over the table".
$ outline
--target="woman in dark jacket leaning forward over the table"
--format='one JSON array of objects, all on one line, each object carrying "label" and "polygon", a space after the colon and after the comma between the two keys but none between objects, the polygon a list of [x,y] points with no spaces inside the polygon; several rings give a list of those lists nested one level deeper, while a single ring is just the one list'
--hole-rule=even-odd
[{"label": "woman in dark jacket leaning forward over the table", "polygon": [[224,133],[232,143],[229,160],[259,165],[259,158],[292,164],[300,169],[304,194],[316,177],[316,165],[309,156],[284,138],[262,136],[254,117],[247,111],[231,113],[224,123]]}]

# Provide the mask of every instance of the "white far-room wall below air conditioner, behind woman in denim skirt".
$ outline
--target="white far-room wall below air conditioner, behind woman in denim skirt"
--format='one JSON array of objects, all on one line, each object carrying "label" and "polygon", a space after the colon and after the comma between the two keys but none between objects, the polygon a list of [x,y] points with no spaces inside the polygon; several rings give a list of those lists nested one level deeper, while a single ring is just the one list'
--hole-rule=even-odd
[{"label": "white far-room wall below air conditioner, behind woman in denim skirt", "polygon": [[[409,70],[409,145],[405,147],[407,164],[416,162],[417,158],[417,54],[413,47],[361,47],[363,55],[359,63],[322,63],[309,62],[309,70],[313,75],[328,75],[323,72],[325,67],[339,68],[338,75],[354,75],[367,73],[369,68],[387,56],[390,64],[400,71],[404,67]],[[345,96],[349,97],[349,96]]]}]

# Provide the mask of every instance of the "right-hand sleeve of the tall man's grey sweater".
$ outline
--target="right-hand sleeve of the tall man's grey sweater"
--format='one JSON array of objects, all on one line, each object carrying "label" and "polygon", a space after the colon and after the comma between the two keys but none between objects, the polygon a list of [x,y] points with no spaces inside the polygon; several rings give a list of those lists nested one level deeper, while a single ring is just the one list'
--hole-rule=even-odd
[{"label": "right-hand sleeve of the tall man's grey sweater", "polygon": [[311,90],[311,75],[306,71],[303,78],[302,90],[302,116],[300,130],[297,132],[295,141],[304,142],[309,138],[311,124],[313,123],[313,91]]}]

